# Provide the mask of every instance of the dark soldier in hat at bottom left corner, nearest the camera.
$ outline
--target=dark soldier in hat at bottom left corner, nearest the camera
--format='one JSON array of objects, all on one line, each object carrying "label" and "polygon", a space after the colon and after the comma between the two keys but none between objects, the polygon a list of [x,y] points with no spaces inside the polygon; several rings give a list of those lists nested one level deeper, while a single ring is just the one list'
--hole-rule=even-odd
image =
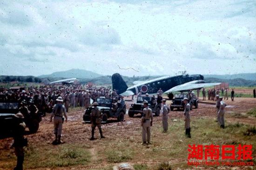
[{"label": "dark soldier in hat at bottom left corner, nearest the camera", "polygon": [[18,112],[14,115],[16,124],[13,130],[13,147],[14,152],[17,157],[17,164],[14,170],[23,170],[23,161],[24,161],[24,146],[27,146],[27,139],[24,138],[24,131],[26,124],[23,121],[24,116]]}]

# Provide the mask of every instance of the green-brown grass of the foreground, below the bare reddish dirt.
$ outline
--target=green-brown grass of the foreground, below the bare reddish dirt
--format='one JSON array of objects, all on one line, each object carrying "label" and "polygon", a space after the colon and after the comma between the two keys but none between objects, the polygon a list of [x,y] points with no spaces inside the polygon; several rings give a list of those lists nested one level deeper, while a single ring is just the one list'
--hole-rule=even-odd
[{"label": "green-brown grass of the foreground, below the bare reddish dirt", "polygon": [[[152,145],[141,146],[141,130],[135,131],[131,137],[102,140],[100,148],[95,150],[96,159],[92,160],[90,153],[91,144],[62,144],[59,146],[46,145],[40,148],[29,146],[26,149],[25,168],[66,167],[72,165],[86,165],[106,161],[107,164],[134,162],[136,170],[157,169],[151,166],[154,162],[171,162],[172,168],[191,168],[179,160],[186,160],[188,156],[188,144],[252,144],[256,146],[255,132],[248,131],[252,126],[239,123],[226,123],[226,128],[219,128],[214,118],[198,118],[191,121],[192,138],[184,136],[184,121],[169,121],[170,127],[167,133],[162,133],[162,124],[154,124],[152,128]],[[253,153],[256,153],[253,148]],[[6,164],[4,168],[11,168],[15,162],[13,154],[9,157],[1,153],[0,158]],[[136,163],[138,157],[145,161]],[[255,155],[254,155],[255,158]],[[142,159],[143,160],[143,159]],[[255,162],[255,159],[254,159]],[[147,164],[149,163],[149,164]],[[255,162],[256,163],[256,162]]]}]

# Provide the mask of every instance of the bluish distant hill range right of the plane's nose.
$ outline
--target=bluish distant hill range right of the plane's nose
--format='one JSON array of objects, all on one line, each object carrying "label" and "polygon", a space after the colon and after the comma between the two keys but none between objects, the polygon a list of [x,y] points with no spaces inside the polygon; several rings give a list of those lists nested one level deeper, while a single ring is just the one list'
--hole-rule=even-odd
[{"label": "bluish distant hill range right of the plane's nose", "polygon": [[245,80],[256,80],[256,73],[241,73],[241,74],[224,74],[224,75],[203,75],[204,78],[219,78],[219,79],[236,79],[243,78]]}]

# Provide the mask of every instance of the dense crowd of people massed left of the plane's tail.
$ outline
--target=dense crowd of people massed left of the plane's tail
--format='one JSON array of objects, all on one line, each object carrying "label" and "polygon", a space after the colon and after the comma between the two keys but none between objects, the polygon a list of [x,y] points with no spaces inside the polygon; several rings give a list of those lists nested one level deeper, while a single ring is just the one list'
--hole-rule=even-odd
[{"label": "dense crowd of people massed left of the plane's tail", "polygon": [[17,102],[21,104],[22,101],[28,103],[33,100],[34,105],[42,115],[45,115],[46,112],[52,112],[58,97],[63,98],[63,103],[68,112],[69,107],[88,108],[91,100],[95,101],[97,97],[119,98],[119,95],[109,87],[88,85],[28,86],[27,89],[16,90],[0,88],[0,102]]}]

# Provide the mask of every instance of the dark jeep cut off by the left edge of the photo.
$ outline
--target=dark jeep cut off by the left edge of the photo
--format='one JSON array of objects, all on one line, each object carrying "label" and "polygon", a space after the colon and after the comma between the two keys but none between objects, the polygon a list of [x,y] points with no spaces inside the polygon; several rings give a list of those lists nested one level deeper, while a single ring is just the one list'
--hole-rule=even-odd
[{"label": "dark jeep cut off by the left edge of the photo", "polygon": [[[19,103],[16,102],[0,102],[0,134],[9,134],[13,132],[13,127],[17,123],[14,115],[19,111]],[[28,114],[24,118],[31,133],[38,131],[41,121],[40,114]]]}]

